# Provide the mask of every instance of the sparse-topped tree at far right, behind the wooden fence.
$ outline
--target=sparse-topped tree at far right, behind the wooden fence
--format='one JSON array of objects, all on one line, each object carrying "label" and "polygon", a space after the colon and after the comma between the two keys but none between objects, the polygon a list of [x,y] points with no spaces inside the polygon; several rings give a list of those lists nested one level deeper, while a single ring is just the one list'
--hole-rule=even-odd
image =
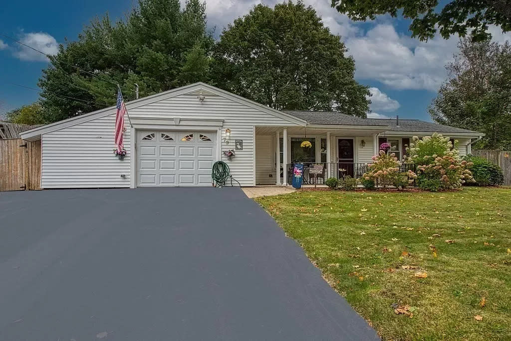
[{"label": "sparse-topped tree at far right, behind the wooden fence", "polygon": [[440,124],[486,134],[478,148],[511,148],[511,45],[462,39],[449,79],[428,108]]}]

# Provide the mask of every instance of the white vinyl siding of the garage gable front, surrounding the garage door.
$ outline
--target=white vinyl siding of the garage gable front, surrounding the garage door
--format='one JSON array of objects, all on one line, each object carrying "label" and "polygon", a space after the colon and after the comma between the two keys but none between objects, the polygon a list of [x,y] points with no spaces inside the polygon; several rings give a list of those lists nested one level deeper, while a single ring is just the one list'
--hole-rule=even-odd
[{"label": "white vinyl siding of the garage gable front, surrounding the garage door", "polygon": [[[217,141],[221,145],[221,151],[235,149],[237,139],[243,140],[243,150],[236,151],[236,156],[232,160],[228,160],[223,154],[221,159],[229,165],[230,174],[242,186],[253,186],[254,126],[287,127],[296,124],[279,117],[278,113],[272,114],[223,95],[205,94],[202,102],[197,96],[196,93],[179,94],[128,109],[128,113],[132,120],[152,120],[152,125],[155,119],[166,119],[168,122],[180,118],[181,126],[182,120],[192,119],[196,126],[194,131],[202,130],[198,128],[201,127],[201,121],[223,121],[221,140]],[[113,155],[114,110],[111,111],[112,114],[42,134],[42,188],[130,187],[130,177],[134,176],[136,173],[134,169],[137,167],[135,165],[130,171],[130,159],[133,157],[130,150],[131,129],[126,116],[124,147],[127,155],[120,161]],[[176,125],[179,129],[186,129],[179,124]],[[224,141],[227,128],[231,131],[228,144]],[[207,129],[211,129],[211,126]],[[164,130],[173,129],[166,129],[165,126],[156,129]],[[125,178],[121,178],[121,175],[125,175]]]}]

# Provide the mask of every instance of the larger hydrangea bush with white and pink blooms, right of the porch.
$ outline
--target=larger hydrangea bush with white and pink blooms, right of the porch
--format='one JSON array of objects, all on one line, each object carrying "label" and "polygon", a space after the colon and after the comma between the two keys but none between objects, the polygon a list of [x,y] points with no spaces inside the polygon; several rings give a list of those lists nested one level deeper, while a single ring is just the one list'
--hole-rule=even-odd
[{"label": "larger hydrangea bush with white and pink blooms, right of the porch", "polygon": [[[458,150],[454,149],[449,138],[442,134],[435,133],[422,140],[414,136],[413,143],[410,143],[406,151],[406,161],[417,165],[419,187],[425,180],[429,180],[425,181],[429,190],[455,189],[463,183],[474,182],[468,169],[473,163],[461,160]],[[438,188],[430,188],[432,183],[437,184]]]}]

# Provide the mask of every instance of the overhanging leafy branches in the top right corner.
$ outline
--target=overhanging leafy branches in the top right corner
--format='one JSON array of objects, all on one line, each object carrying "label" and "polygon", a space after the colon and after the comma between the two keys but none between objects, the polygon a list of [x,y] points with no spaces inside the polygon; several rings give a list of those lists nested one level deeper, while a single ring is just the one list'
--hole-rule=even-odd
[{"label": "overhanging leafy branches in the top right corner", "polygon": [[332,7],[352,20],[374,20],[389,14],[412,19],[413,38],[428,40],[437,30],[444,38],[453,34],[464,37],[470,32],[474,41],[491,38],[489,25],[511,31],[510,0],[332,0]]}]

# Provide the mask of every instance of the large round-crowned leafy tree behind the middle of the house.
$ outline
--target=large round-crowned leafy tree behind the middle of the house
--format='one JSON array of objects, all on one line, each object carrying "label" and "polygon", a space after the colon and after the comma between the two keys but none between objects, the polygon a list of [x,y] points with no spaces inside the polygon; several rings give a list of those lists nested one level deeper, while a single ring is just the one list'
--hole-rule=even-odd
[{"label": "large round-crowned leafy tree behind the middle of the house", "polygon": [[274,109],[365,117],[369,91],[353,79],[355,62],[346,52],[312,7],[257,5],[223,31],[212,77],[217,86]]}]

